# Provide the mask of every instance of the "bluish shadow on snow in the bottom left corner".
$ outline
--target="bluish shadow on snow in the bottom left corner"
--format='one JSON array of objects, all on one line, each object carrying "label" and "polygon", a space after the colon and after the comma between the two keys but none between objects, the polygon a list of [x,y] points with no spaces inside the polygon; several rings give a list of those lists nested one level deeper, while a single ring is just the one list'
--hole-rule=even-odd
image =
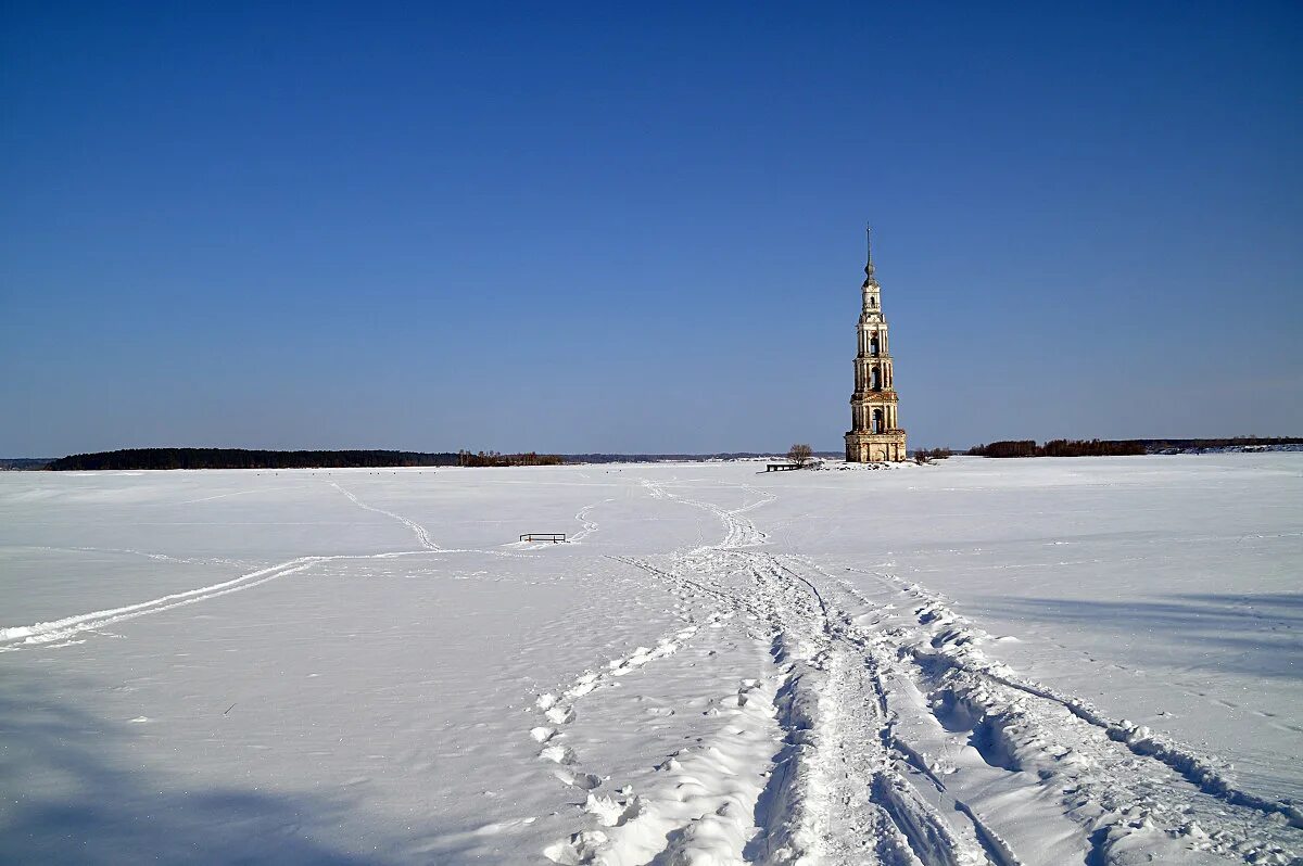
[{"label": "bluish shadow on snow in the bottom left corner", "polygon": [[[128,727],[5,673],[0,861],[9,863],[380,863],[304,836],[349,803],[214,788],[142,768]],[[184,757],[182,757],[184,759]],[[336,822],[337,823],[337,822]]]}]

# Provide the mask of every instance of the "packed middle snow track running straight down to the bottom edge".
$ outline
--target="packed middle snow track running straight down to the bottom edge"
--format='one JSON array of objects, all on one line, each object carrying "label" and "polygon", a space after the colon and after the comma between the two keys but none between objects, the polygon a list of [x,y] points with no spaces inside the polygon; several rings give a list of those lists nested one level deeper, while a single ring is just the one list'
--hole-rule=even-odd
[{"label": "packed middle snow track running straight down to the bottom edge", "polygon": [[780,634],[784,667],[780,723],[787,766],[770,797],[784,803],[762,827],[760,862],[1012,866],[990,856],[984,827],[946,820],[904,776],[906,755],[891,736],[877,662],[847,632],[847,619],[804,564],[767,553],[748,560],[753,595]]}]

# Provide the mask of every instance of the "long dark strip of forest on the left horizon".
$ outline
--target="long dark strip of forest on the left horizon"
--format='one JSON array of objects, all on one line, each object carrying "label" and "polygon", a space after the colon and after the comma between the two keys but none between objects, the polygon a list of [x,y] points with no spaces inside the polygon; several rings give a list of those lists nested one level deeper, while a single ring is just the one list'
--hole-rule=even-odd
[{"label": "long dark strip of forest on the left horizon", "polygon": [[124,469],[353,469],[455,466],[457,456],[414,451],[246,451],[244,448],[125,448],[72,454],[51,461],[53,470]]}]

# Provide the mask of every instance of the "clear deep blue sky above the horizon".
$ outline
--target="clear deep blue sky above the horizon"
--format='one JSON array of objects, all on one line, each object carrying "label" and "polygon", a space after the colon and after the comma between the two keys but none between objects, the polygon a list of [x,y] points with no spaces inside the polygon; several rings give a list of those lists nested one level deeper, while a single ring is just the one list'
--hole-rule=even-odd
[{"label": "clear deep blue sky above the horizon", "polygon": [[0,456],[1303,435],[1299,3],[0,16]]}]

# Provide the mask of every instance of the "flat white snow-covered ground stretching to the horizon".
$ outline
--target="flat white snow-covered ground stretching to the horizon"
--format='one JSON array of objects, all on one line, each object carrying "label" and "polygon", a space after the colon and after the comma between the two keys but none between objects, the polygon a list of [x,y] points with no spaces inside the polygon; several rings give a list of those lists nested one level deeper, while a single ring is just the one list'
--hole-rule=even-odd
[{"label": "flat white snow-covered ground stretching to the horizon", "polygon": [[0,861],[1300,862],[1303,457],[761,469],[0,474]]}]

